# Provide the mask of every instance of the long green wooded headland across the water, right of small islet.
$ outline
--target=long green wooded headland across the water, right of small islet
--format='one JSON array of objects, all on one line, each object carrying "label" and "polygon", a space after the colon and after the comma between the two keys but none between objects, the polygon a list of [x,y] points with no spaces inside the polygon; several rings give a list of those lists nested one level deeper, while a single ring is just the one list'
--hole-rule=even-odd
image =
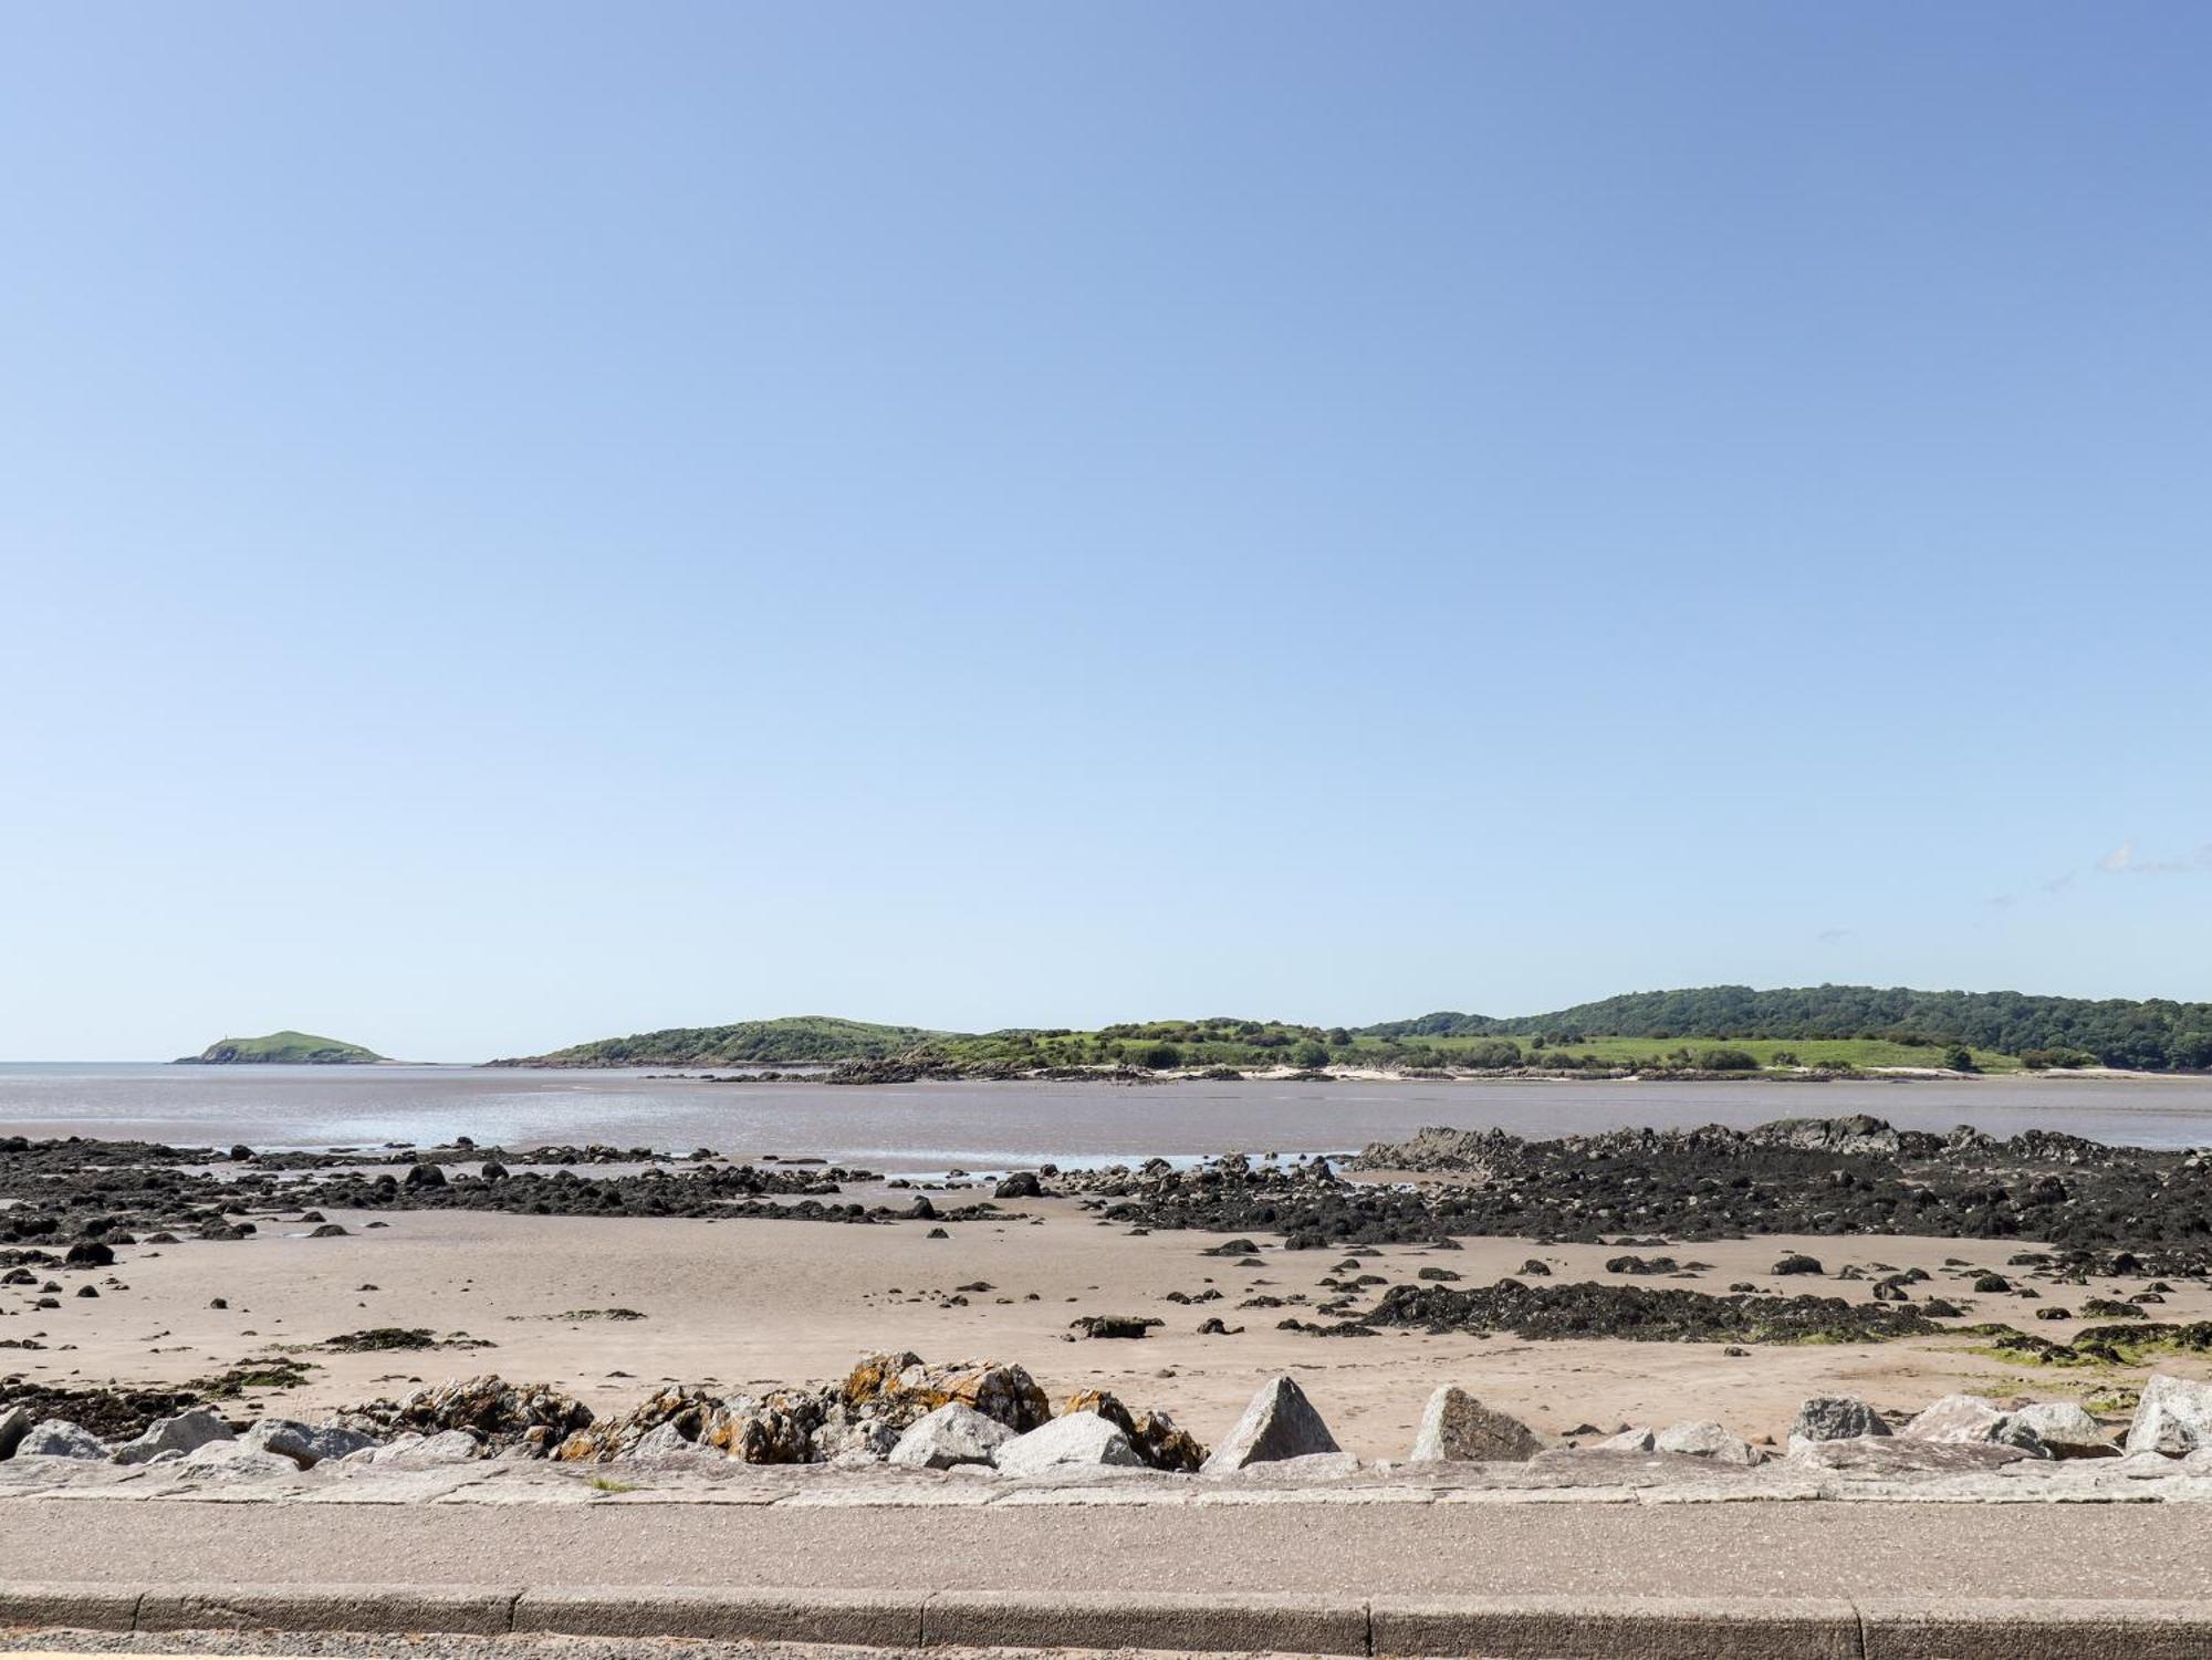
[{"label": "long green wooded headland across the water, right of small islet", "polygon": [[1210,1016],[929,1031],[834,1016],[670,1027],[498,1067],[832,1067],[841,1080],[1099,1069],[1542,1071],[1601,1076],[2212,1069],[2212,1003],[1818,985],[1632,992],[1526,1016],[1425,1014],[1365,1027]]}]

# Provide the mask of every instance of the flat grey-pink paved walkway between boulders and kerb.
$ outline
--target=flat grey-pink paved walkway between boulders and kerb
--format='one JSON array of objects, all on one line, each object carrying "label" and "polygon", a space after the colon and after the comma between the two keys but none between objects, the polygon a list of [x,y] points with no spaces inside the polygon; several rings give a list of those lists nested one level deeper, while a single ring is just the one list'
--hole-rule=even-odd
[{"label": "flat grey-pink paved walkway between boulders and kerb", "polygon": [[2212,1598],[2197,1505],[0,1503],[0,1583]]}]

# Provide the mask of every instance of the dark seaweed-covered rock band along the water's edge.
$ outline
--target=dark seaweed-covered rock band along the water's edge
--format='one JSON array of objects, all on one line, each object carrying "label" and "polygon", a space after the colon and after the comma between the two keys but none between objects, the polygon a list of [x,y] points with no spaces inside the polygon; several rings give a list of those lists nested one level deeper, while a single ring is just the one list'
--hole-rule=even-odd
[{"label": "dark seaweed-covered rock band along the water's edge", "polygon": [[[633,1166],[591,1173],[588,1166]],[[1345,1173],[1325,1158],[1228,1153],[1104,1171],[1051,1164],[991,1202],[1073,1195],[1146,1228],[1265,1231],[1292,1246],[1447,1244],[1515,1235],[1677,1242],[1756,1233],[2037,1239],[2079,1259],[2137,1253],[2159,1273],[2212,1266],[2212,1155],[2028,1131],[1900,1131],[1878,1118],[1778,1120],[1750,1131],[1608,1131],[1524,1140],[1429,1129],[1374,1144]],[[529,1215],[743,1215],[834,1222],[945,1220],[854,1204],[847,1189],[905,1186],[847,1166],[732,1162],[710,1149],[436,1149],[254,1153],[150,1142],[0,1138],[0,1246],[117,1231],[234,1226],[263,1211],[480,1208]],[[969,1186],[953,1177],[945,1191]],[[783,1200],[796,1200],[783,1204]]]}]

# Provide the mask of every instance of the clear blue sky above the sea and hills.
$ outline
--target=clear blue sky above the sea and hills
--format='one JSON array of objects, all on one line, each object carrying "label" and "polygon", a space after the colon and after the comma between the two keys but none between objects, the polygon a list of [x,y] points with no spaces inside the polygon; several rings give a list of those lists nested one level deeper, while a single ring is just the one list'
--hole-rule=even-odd
[{"label": "clear blue sky above the sea and hills", "polygon": [[2208,55],[18,11],[0,1056],[2208,998]]}]

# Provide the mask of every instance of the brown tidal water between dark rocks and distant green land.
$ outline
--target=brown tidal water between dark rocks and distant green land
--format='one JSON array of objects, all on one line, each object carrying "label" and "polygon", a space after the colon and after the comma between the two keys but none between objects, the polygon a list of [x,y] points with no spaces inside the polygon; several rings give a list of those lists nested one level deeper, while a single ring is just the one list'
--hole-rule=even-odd
[{"label": "brown tidal water between dark rocks and distant green land", "polygon": [[0,1135],[250,1147],[613,1142],[887,1171],[1340,1151],[1422,1124],[1566,1135],[1874,1113],[1909,1129],[2212,1147],[2212,1078],[1958,1082],[710,1085],[491,1067],[0,1065]]}]

